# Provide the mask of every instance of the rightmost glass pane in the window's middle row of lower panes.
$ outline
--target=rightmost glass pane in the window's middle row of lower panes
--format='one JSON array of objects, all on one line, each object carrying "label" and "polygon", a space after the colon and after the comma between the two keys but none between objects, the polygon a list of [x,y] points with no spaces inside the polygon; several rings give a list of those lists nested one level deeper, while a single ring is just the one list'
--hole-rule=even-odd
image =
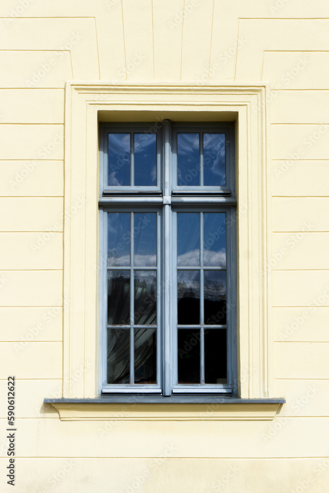
[{"label": "rightmost glass pane in the window's middle row of lower panes", "polygon": [[226,324],[226,272],[204,272],[205,325]]}]

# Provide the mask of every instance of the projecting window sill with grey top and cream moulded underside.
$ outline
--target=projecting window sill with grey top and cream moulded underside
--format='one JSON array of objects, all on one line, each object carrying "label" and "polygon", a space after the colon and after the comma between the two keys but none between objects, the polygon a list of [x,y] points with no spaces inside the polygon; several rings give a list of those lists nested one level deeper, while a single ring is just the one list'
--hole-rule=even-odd
[{"label": "projecting window sill with grey top and cream moulded underside", "polygon": [[44,399],[61,421],[271,421],[284,398],[218,395],[103,395],[91,399]]}]

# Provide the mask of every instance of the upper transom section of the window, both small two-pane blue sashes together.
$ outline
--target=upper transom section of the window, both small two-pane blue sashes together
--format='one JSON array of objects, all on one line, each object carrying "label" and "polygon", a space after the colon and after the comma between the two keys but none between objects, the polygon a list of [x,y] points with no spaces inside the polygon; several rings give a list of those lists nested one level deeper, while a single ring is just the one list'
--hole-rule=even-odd
[{"label": "upper transom section of the window, both small two-pane blue sashes together", "polygon": [[[168,184],[162,171],[166,144],[170,149]],[[100,197],[193,194],[234,198],[232,163],[234,123],[196,126],[165,120],[159,129],[152,123],[101,124]]]}]

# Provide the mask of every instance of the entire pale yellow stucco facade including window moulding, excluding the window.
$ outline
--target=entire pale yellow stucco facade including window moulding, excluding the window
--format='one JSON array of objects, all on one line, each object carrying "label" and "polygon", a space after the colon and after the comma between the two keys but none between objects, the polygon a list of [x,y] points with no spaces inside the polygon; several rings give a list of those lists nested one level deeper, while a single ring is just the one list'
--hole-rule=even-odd
[{"label": "entire pale yellow stucco facade including window moulding, excluding the window", "polygon": [[[4,0],[0,25],[1,491],[14,375],[16,492],[328,492],[329,5]],[[244,404],[83,400],[98,122],[165,118],[235,122]]]}]

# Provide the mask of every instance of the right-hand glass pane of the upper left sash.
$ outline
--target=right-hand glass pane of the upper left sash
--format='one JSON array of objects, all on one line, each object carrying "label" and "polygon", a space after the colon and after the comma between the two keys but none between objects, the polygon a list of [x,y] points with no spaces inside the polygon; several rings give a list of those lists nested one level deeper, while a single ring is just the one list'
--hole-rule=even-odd
[{"label": "right-hand glass pane of the upper left sash", "polygon": [[135,134],[135,185],[156,185],[156,136]]}]

